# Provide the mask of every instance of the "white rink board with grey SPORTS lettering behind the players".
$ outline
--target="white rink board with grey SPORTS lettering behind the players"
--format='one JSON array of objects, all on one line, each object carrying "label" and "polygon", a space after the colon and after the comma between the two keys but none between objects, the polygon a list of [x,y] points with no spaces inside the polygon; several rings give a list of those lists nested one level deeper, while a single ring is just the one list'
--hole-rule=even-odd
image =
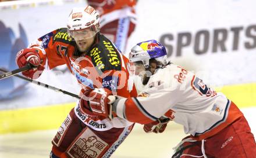
[{"label": "white rink board with grey SPORTS lettering behind the players", "polygon": [[[19,34],[18,24],[22,24],[29,42],[32,42],[49,31],[65,27],[73,6],[83,6],[84,3],[1,10],[0,19],[15,34]],[[256,10],[253,6],[256,6],[254,0],[138,1],[137,27],[131,35],[126,52],[137,42],[157,39],[166,45],[173,63],[195,71],[210,86],[256,82]],[[205,37],[207,35],[208,38]],[[199,37],[196,38],[197,36]],[[208,40],[208,44],[204,38]],[[223,38],[224,42],[218,43]],[[197,46],[201,54],[195,53]],[[44,72],[39,80],[77,94],[79,86],[66,73]],[[74,101],[72,97],[63,97],[55,91],[31,84],[27,88],[29,90],[22,97],[0,104],[16,108],[23,106],[20,102],[26,102],[26,106],[34,106]],[[27,100],[27,97],[31,99]]]}]

